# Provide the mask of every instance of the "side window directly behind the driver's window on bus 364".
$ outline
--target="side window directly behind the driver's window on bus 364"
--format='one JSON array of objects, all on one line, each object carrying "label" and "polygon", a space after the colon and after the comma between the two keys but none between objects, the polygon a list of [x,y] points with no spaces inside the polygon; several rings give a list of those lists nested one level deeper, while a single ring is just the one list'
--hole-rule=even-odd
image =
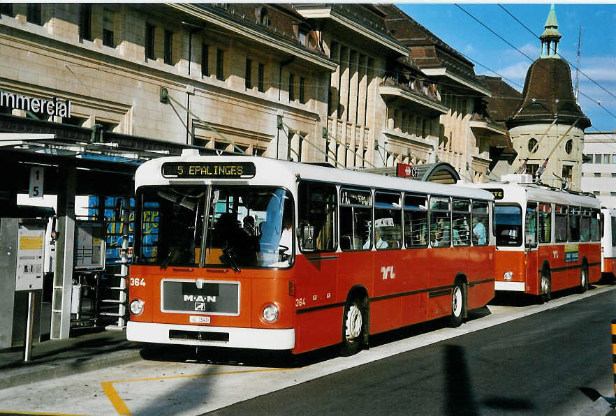
[{"label": "side window directly behind the driver's window on bus 364", "polygon": [[355,189],[340,191],[340,248],[370,250],[372,239],[372,193]]}]

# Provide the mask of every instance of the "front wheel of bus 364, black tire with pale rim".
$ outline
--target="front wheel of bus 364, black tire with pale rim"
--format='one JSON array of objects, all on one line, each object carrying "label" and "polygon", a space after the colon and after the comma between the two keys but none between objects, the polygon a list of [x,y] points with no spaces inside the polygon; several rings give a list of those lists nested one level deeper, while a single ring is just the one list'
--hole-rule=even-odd
[{"label": "front wheel of bus 364, black tire with pale rim", "polygon": [[368,311],[365,297],[350,298],[342,314],[342,345],[340,355],[349,357],[362,349],[367,332]]}]

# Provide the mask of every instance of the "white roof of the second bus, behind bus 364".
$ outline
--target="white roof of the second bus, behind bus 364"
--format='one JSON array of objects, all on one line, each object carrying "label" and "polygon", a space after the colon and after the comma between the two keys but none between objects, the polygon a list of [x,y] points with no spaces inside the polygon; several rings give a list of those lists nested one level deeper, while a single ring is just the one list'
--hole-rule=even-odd
[{"label": "white roof of the second bus, behind bus 364", "polygon": [[503,191],[503,198],[496,198],[497,202],[519,202],[522,200],[535,202],[554,202],[562,205],[575,205],[582,207],[600,208],[601,202],[589,195],[581,195],[566,190],[557,190],[536,184],[505,184],[503,182],[486,182],[484,184],[467,184],[490,191]]}]

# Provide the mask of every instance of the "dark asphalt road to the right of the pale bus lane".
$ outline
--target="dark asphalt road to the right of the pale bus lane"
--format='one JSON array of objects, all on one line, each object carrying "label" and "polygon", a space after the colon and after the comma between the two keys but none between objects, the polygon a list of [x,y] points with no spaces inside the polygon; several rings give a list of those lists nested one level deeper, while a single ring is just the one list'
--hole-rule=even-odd
[{"label": "dark asphalt road to the right of the pale bus lane", "polygon": [[208,415],[588,414],[593,400],[614,397],[615,297],[580,299]]}]

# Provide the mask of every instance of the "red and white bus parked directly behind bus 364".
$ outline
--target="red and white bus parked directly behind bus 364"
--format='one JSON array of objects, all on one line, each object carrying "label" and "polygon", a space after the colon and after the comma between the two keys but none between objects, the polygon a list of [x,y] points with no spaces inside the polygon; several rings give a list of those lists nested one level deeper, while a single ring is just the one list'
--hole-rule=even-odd
[{"label": "red and white bus parked directly behind bus 364", "polygon": [[527,174],[477,184],[494,195],[499,291],[550,299],[601,278],[601,204],[592,195],[531,184]]}]

